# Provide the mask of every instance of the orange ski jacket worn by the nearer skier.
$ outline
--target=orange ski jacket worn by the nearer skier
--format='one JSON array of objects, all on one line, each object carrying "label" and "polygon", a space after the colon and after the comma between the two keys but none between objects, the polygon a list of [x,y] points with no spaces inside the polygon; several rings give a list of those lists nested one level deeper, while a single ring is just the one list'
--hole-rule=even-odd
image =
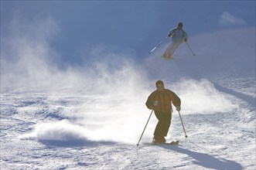
[{"label": "orange ski jacket worn by the nearer skier", "polygon": [[[155,101],[158,101],[157,106],[153,105]],[[172,111],[172,104],[175,107],[180,107],[181,100],[176,95],[176,93],[173,93],[168,89],[164,89],[162,92],[155,90],[149,95],[148,100],[145,103],[148,109],[161,112]]]}]

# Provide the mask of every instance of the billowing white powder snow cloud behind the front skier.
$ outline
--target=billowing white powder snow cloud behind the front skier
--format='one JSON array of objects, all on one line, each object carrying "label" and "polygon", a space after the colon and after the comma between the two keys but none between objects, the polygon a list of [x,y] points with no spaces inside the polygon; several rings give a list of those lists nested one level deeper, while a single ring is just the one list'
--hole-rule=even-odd
[{"label": "billowing white powder snow cloud behind the front skier", "polygon": [[[19,29],[21,23],[15,22],[13,26]],[[79,107],[74,107],[72,110],[61,105],[61,107],[64,107],[61,111],[62,114],[73,115],[73,120],[78,121],[49,122],[47,123],[48,128],[43,128],[46,124],[39,123],[35,125],[32,134],[23,138],[134,143],[138,140],[140,134],[138,129],[143,129],[145,120],[147,120],[151,111],[145,107],[145,100],[155,90],[155,80],[159,79],[164,80],[166,88],[173,90],[181,97],[182,114],[230,112],[238,107],[224,93],[220,93],[213,86],[213,83],[207,80],[207,77],[193,80],[192,76],[184,71],[189,70],[190,65],[191,68],[204,66],[202,70],[206,75],[210,68],[208,68],[209,64],[206,64],[203,59],[214,59],[217,62],[215,66],[223,63],[224,59],[230,63],[228,56],[234,58],[232,54],[236,51],[234,51],[233,45],[236,45],[237,42],[231,41],[231,38],[237,35],[237,32],[229,33],[231,38],[227,42],[232,42],[232,46],[230,43],[227,43],[230,47],[225,46],[232,50],[220,50],[219,46],[222,46],[222,44],[217,46],[218,48],[215,47],[225,56],[221,56],[221,59],[217,59],[220,55],[215,56],[216,53],[213,53],[214,56],[209,56],[210,49],[213,52],[217,51],[212,47],[213,43],[216,45],[217,42],[220,42],[219,39],[214,40],[214,37],[217,37],[216,34],[222,36],[221,32],[217,32],[200,36],[197,38],[198,41],[195,41],[196,38],[192,38],[191,42],[194,41],[191,43],[193,44],[192,47],[204,46],[200,53],[198,51],[200,48],[195,48],[198,53],[197,59],[189,58],[188,54],[183,55],[183,57],[186,57],[186,62],[183,62],[185,60],[178,55],[172,63],[166,62],[159,57],[162,52],[156,50],[152,58],[148,57],[146,61],[137,63],[129,59],[131,54],[114,53],[108,48],[94,46],[87,53],[87,58],[96,58],[95,60],[84,63],[82,66],[70,65],[67,70],[60,70],[56,66],[57,64],[53,62],[54,58],[58,58],[60,54],[56,52],[53,46],[50,46],[52,33],[54,35],[54,32],[58,32],[56,21],[46,19],[40,21],[40,24],[37,23],[29,24],[29,30],[31,30],[29,32],[26,32],[26,26],[22,25],[23,29],[19,29],[19,32],[14,29],[11,35],[6,36],[3,45],[4,52],[2,52],[2,61],[4,62],[1,68],[2,84],[5,84],[6,88],[11,88],[9,90],[22,89],[24,92],[26,91],[24,87],[28,86],[29,89],[31,87],[36,90],[43,90],[46,93],[50,92],[47,94],[48,97],[53,95],[56,100],[61,100],[62,93],[69,93],[71,98],[74,96],[75,98],[85,98],[79,101]],[[46,32],[44,32],[45,30]],[[23,32],[26,32],[26,36]],[[44,34],[38,34],[38,32],[44,32]],[[227,37],[227,34],[225,35]],[[251,37],[247,37],[247,39],[249,38]],[[202,39],[211,39],[212,41],[207,43],[206,46]],[[200,42],[203,43],[202,46]],[[185,48],[186,46],[182,47]],[[240,49],[238,52],[244,53],[246,51],[250,54],[247,57],[254,56],[254,51],[251,53],[251,50],[245,50],[244,46],[241,46]],[[179,49],[179,52],[181,51]],[[187,49],[183,51],[189,53]],[[104,56],[104,58],[97,58],[98,56]],[[200,62],[204,63],[200,64]],[[186,66],[186,69],[183,69],[182,66]],[[225,70],[227,70],[227,66],[224,65]],[[244,66],[248,67],[248,65]],[[221,68],[218,66],[218,72],[224,70]],[[200,70],[191,69],[190,72],[198,74]],[[5,90],[5,88],[2,90]],[[53,104],[52,102],[49,103]],[[54,106],[51,105],[51,107]],[[152,119],[152,121],[156,120]],[[145,138],[152,137],[154,125],[155,123],[148,125]]]}]

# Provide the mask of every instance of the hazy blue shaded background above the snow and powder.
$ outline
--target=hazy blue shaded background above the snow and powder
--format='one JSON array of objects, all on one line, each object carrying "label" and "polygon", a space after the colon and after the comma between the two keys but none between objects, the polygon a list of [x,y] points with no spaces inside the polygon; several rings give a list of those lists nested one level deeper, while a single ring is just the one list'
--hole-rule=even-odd
[{"label": "hazy blue shaded background above the snow and powder", "polygon": [[47,19],[49,44],[65,63],[80,63],[94,46],[144,59],[179,21],[189,37],[254,27],[255,1],[1,1],[1,39],[17,32],[14,22],[29,32]]}]

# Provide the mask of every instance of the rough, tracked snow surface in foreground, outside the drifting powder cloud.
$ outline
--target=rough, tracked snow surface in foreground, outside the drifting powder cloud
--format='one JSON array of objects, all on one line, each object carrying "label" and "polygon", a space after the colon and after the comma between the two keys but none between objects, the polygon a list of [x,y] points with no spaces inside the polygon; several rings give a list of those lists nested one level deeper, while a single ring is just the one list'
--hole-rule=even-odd
[{"label": "rough, tracked snow surface in foreground, outside the drifting powder cloud", "polygon": [[[255,169],[254,93],[248,88],[236,90],[232,83],[228,87],[216,83],[221,93],[239,105],[235,110],[182,114],[188,138],[183,137],[179,115],[174,112],[167,140],[178,139],[180,145],[145,145],[142,140],[138,148],[137,141],[90,141],[70,134],[65,134],[67,140],[22,138],[39,122],[76,124],[77,117],[70,113],[91,99],[2,93],[1,169]],[[135,133],[139,136],[141,129]]]}]

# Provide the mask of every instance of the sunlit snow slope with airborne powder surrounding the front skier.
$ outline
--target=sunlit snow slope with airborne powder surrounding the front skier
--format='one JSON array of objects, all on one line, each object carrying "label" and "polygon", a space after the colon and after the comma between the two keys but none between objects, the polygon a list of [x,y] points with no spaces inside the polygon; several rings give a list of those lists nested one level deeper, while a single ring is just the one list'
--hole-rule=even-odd
[{"label": "sunlit snow slope with airborne powder surrounding the front skier", "polygon": [[[165,45],[143,63],[94,49],[91,57],[105,58],[67,70],[47,63],[54,53],[45,42],[33,49],[23,39],[10,50],[15,64],[2,53],[1,169],[255,169],[255,46],[246,43],[255,45],[255,36],[242,31],[255,34],[190,37],[196,56],[182,45],[173,61],[159,57]],[[218,42],[221,34],[227,39]],[[136,147],[150,114],[145,100],[159,79],[182,100],[188,138],[175,110],[166,139],[179,145],[145,145],[152,116]]]}]

